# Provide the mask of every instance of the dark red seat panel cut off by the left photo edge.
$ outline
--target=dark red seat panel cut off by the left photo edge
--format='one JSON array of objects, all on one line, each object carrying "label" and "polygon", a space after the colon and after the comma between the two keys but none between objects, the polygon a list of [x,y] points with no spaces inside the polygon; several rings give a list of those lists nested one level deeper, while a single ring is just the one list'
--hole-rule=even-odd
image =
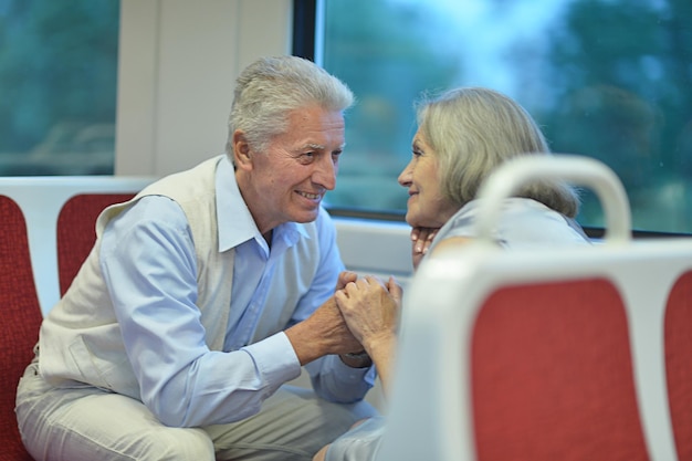
[{"label": "dark red seat panel cut off by the left photo edge", "polygon": [[14,398],[33,356],[42,314],[19,206],[0,196],[0,459],[31,460],[22,446]]}]

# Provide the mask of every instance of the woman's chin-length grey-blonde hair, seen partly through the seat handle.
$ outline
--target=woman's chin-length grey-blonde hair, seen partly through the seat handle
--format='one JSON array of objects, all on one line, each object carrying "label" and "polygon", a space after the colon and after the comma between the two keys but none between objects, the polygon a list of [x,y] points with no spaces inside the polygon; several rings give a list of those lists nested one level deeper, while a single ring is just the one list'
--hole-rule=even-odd
[{"label": "woman's chin-length grey-blonde hair, seen partly through the seat handle", "polygon": [[[489,88],[462,87],[417,104],[418,126],[439,160],[442,193],[463,207],[500,165],[524,155],[551,155],[543,133],[510,97]],[[536,181],[515,193],[569,218],[579,211],[576,189],[558,180]]]}]

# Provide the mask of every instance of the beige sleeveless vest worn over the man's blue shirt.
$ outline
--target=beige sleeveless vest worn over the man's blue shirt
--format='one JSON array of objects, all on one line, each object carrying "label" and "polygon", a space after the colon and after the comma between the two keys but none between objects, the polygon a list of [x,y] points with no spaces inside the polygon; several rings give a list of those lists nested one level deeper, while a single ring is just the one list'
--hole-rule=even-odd
[{"label": "beige sleeveless vest worn over the man's blue shirt", "polygon": [[[105,209],[96,222],[94,249],[63,298],[41,326],[40,366],[54,386],[91,386],[139,399],[139,385],[128,362],[119,325],[101,266],[101,235],[106,224],[144,196],[175,200],[184,210],[197,254],[197,306],[211,350],[221,350],[228,326],[234,250],[219,252],[214,178],[221,157],[168,176],[145,188],[133,200]],[[269,295],[254,340],[285,328],[300,296],[308,289],[319,261],[315,223],[301,224],[308,238],[287,252],[274,276],[285,280],[286,291]],[[300,271],[295,269],[300,265]],[[287,270],[293,268],[291,270]],[[297,273],[295,273],[297,272]],[[280,279],[281,280],[281,279]],[[293,290],[291,290],[293,287]]]}]

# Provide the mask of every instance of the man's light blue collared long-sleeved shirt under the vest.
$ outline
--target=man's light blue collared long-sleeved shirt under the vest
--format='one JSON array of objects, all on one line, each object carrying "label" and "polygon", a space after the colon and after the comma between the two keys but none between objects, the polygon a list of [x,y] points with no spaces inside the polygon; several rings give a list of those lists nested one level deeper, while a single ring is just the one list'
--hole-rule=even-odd
[{"label": "man's light blue collared long-sleeved shirt under the vest", "polygon": [[[282,290],[274,268],[286,249],[304,238],[293,222],[276,227],[271,251],[258,230],[234,180],[221,161],[216,177],[219,251],[235,249],[230,318],[224,352],[211,352],[197,298],[197,263],[187,219],[180,207],[147,196],[108,223],[101,264],[120,325],[127,356],[143,397],[165,412],[161,420],[208,426],[247,418],[301,366],[281,332],[254,344],[252,336],[266,294]],[[286,327],[307,318],[333,293],[344,269],[326,213],[317,219],[321,271],[295,306]],[[340,402],[361,399],[373,385],[368,369],[349,368],[338,356],[306,366],[322,397]]]}]

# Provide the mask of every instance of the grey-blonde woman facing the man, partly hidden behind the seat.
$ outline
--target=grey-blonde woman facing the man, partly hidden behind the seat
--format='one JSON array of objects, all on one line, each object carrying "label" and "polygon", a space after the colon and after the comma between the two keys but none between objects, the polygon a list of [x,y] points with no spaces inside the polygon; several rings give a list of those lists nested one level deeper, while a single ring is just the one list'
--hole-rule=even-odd
[{"label": "grey-blonde woman facing the man, partly hidden behind the seat", "polygon": [[[505,161],[551,155],[533,118],[516,102],[480,87],[451,90],[418,107],[412,158],[399,176],[408,189],[406,221],[413,227],[412,258],[418,266],[448,245],[472,241],[476,193]],[[560,181],[533,182],[506,199],[493,240],[501,247],[589,244],[574,220],[575,190]],[[429,249],[429,251],[428,251]],[[396,348],[401,290],[390,279],[363,277],[346,285],[336,301],[352,333],[374,360],[385,391]],[[315,460],[373,459],[382,419],[370,419],[321,450]]]}]

